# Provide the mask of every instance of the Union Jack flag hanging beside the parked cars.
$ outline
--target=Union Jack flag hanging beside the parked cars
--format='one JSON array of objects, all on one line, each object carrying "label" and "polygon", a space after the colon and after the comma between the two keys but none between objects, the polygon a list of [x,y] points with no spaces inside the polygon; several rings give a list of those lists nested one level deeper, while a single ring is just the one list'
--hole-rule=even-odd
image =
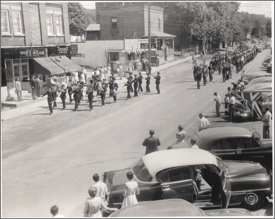
[{"label": "Union Jack flag hanging beside the parked cars", "polygon": [[242,105],[250,109],[253,116],[262,117],[262,93],[261,92],[251,92],[251,91],[242,91],[234,92],[234,97],[240,101]]}]

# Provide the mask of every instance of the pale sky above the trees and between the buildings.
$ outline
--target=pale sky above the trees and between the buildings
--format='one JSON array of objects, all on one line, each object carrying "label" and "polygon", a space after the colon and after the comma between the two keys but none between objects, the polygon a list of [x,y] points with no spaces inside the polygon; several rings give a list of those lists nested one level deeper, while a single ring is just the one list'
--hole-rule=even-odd
[{"label": "pale sky above the trees and between the buildings", "polygon": [[[239,1],[241,3],[239,11],[248,12],[250,14],[261,14],[266,17],[272,17],[271,2],[272,1]],[[95,2],[81,1],[85,8],[95,9]]]}]

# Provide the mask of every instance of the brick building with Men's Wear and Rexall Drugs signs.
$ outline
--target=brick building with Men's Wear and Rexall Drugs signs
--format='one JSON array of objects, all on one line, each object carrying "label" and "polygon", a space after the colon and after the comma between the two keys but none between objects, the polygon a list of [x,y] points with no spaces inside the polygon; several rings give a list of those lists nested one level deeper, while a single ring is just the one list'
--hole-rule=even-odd
[{"label": "brick building with Men's Wear and Rexall Drugs signs", "polygon": [[[52,56],[59,57],[52,59]],[[30,76],[42,74],[42,85],[47,86],[56,72],[49,71],[44,60],[64,72],[59,74],[60,79],[66,78],[68,70],[62,62],[65,60],[68,65],[72,62],[70,58],[67,3],[1,3],[2,101],[13,99],[16,78],[20,79],[23,90],[30,90]]]}]

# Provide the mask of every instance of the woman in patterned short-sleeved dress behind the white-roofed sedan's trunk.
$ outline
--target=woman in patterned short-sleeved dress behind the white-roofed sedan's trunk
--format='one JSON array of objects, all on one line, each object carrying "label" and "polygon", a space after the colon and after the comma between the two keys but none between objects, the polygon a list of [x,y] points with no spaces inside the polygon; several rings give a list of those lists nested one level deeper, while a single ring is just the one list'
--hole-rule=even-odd
[{"label": "woman in patterned short-sleeved dress behind the white-roofed sedan's trunk", "polygon": [[102,217],[100,209],[108,209],[100,197],[95,197],[97,193],[97,187],[91,186],[88,190],[90,199],[85,202],[83,210],[83,217],[99,218]]}]

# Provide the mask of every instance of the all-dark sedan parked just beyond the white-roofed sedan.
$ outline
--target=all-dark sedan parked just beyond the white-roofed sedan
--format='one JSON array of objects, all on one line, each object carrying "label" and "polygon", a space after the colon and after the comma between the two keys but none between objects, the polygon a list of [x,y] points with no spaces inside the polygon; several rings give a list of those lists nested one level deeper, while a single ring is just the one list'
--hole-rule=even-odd
[{"label": "all-dark sedan parked just beyond the white-roofed sedan", "polygon": [[[262,139],[256,131],[242,127],[219,127],[199,131],[191,139],[200,149],[222,160],[253,161],[272,170],[272,139]],[[171,145],[167,149],[190,148],[189,141]]]}]

